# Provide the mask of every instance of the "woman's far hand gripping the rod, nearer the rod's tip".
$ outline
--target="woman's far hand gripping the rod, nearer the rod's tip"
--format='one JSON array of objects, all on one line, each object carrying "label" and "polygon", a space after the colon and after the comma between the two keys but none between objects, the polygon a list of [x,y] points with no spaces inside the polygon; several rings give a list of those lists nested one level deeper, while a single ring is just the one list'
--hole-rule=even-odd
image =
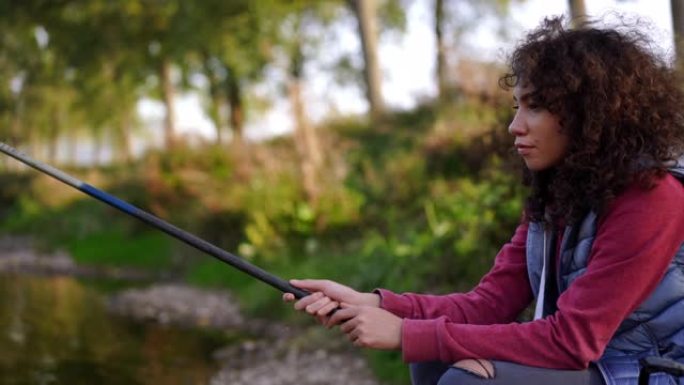
[{"label": "woman's far hand gripping the rod, nearer the rod's tip", "polygon": [[[344,302],[352,305],[364,305],[369,307],[380,306],[380,296],[373,293],[361,293],[349,286],[345,286],[330,280],[319,279],[293,279],[293,286],[311,292],[310,295],[295,302],[296,310],[306,311],[313,315],[322,324],[329,323],[328,315]],[[295,296],[292,293],[283,294],[283,301],[292,302]],[[332,326],[332,325],[330,325]]]}]

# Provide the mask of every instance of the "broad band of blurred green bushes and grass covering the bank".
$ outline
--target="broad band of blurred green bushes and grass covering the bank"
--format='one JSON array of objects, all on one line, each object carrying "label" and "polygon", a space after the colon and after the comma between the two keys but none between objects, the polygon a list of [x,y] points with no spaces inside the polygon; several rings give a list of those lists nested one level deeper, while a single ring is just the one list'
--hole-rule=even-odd
[{"label": "broad band of blurred green bushes and grass covering the bank", "polygon": [[[471,116],[471,125],[478,116],[497,116],[468,108],[477,107],[454,110]],[[253,148],[260,160],[253,160],[248,178],[237,173],[230,154],[213,146],[179,146],[87,176],[284,279],[330,278],[364,291],[463,291],[491,267],[518,224],[525,190],[499,155],[506,142],[490,130],[495,123],[483,124],[479,133],[450,128],[436,134],[441,114],[431,106],[396,114],[388,118],[391,131],[355,120],[331,124],[336,147],[328,149],[330,169],[315,207],[305,198],[296,153],[285,139]],[[99,202],[62,193],[66,187],[42,177],[1,178],[3,231],[40,234],[84,264],[173,269],[192,284],[230,289],[248,314],[309,321],[264,283],[179,249]],[[397,353],[368,356],[385,381],[407,383]]]}]

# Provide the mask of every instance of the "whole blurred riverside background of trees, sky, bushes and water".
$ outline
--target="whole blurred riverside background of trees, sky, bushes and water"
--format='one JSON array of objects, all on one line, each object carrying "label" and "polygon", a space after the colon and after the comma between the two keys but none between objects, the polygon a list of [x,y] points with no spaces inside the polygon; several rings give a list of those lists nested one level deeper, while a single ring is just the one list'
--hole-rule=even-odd
[{"label": "whole blurred riverside background of trees, sky, bushes and water", "polygon": [[[561,14],[682,63],[682,0],[0,0],[0,141],[283,278],[468,290],[526,193],[506,54]],[[0,271],[2,384],[336,383],[316,359],[408,383],[398,352],[5,156]],[[244,318],[201,313],[216,293]]]}]

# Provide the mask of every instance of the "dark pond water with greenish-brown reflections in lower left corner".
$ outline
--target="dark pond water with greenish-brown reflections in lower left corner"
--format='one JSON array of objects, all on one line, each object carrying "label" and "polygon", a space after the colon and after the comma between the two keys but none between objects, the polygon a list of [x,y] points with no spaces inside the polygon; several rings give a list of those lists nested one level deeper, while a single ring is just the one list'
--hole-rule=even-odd
[{"label": "dark pond water with greenish-brown reflections in lower left corner", "polygon": [[107,314],[68,277],[0,276],[0,384],[206,384],[215,337]]}]

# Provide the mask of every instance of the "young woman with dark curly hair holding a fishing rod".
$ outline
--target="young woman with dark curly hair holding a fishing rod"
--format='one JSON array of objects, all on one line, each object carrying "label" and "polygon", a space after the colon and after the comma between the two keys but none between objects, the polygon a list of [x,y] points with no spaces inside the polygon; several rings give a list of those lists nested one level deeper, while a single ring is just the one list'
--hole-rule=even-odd
[{"label": "young woman with dark curly hair holding a fishing rod", "polygon": [[[295,309],[355,345],[401,349],[415,384],[636,384],[642,357],[684,362],[682,83],[639,33],[558,18],[510,68],[500,83],[531,195],[477,287],[400,295],[293,280],[313,293]],[[534,320],[516,323],[535,299]]]}]

